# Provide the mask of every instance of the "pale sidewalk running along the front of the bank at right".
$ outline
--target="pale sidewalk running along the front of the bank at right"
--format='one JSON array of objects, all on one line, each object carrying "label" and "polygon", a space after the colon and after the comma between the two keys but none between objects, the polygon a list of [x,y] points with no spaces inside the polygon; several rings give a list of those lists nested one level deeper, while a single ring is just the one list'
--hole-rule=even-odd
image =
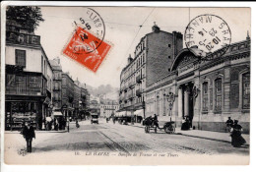
[{"label": "pale sidewalk running along the front of the bank at right", "polygon": [[[134,125],[131,125],[130,123],[128,126],[132,127],[138,127],[138,128],[144,128],[142,124],[135,123]],[[162,130],[162,132],[164,132]],[[203,130],[188,130],[188,131],[182,131],[180,128],[175,129],[176,135],[182,135],[186,137],[192,137],[192,138],[200,138],[204,140],[211,140],[216,142],[222,142],[222,143],[231,143],[231,137],[229,136],[229,133],[221,133],[221,132],[212,132],[212,131],[203,131]],[[250,136],[247,134],[242,134],[242,137],[246,141],[245,144],[250,144]]]}]

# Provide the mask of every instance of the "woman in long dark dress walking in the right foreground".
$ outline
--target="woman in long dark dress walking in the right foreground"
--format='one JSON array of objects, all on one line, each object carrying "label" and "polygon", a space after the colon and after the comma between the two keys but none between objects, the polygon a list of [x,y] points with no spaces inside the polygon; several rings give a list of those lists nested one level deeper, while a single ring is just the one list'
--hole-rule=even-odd
[{"label": "woman in long dark dress walking in the right foreground", "polygon": [[242,138],[242,126],[238,124],[238,120],[234,120],[234,124],[231,129],[231,144],[234,147],[239,147],[242,144],[246,143]]}]

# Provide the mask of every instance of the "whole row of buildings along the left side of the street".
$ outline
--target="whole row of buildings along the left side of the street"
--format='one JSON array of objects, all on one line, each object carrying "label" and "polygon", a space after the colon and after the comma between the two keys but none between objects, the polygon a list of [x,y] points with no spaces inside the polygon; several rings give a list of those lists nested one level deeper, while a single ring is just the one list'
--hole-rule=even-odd
[{"label": "whole row of buildings along the left side of the street", "polygon": [[[61,111],[63,118],[85,117],[90,93],[85,84],[62,71],[60,59],[49,60],[40,36],[14,21],[6,24],[5,127],[31,121],[37,129],[46,117]],[[58,113],[59,115],[60,113]]]}]

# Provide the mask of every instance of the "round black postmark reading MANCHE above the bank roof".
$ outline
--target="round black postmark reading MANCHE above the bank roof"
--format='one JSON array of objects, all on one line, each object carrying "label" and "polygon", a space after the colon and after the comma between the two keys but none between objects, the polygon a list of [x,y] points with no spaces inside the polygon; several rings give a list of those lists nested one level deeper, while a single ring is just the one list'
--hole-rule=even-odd
[{"label": "round black postmark reading MANCHE above the bank roof", "polygon": [[190,21],[184,40],[186,47],[190,51],[197,51],[202,60],[211,60],[213,54],[218,57],[224,55],[231,42],[231,31],[222,18],[206,14]]}]

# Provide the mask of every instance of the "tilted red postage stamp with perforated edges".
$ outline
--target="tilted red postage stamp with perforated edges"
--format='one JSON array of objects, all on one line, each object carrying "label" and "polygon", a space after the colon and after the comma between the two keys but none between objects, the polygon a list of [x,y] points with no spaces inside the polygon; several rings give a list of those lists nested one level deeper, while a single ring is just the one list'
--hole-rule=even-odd
[{"label": "tilted red postage stamp with perforated edges", "polygon": [[96,72],[110,48],[109,43],[100,40],[88,30],[78,27],[64,48],[63,54]]}]

